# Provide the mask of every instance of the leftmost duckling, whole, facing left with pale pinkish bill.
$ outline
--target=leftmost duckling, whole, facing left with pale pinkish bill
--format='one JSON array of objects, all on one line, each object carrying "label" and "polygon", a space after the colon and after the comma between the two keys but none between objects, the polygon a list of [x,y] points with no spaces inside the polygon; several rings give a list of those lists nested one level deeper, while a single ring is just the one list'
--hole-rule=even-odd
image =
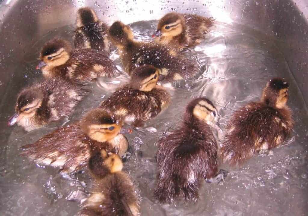
[{"label": "leftmost duckling, whole, facing left with pale pinkish bill", "polygon": [[70,115],[88,92],[83,85],[57,77],[36,82],[20,91],[7,124],[17,123],[26,131],[43,127]]}]

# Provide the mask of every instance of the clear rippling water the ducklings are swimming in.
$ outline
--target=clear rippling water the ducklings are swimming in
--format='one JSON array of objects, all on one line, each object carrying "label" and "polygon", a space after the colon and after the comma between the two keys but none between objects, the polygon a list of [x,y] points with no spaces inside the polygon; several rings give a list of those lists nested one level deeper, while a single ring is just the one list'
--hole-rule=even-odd
[{"label": "clear rippling water the ducklings are swimming in", "polygon": [[[138,22],[131,25],[136,39],[150,40],[157,21]],[[72,26],[56,29],[35,44],[29,45],[24,64],[16,67],[12,89],[19,83],[30,83],[41,77],[35,72],[36,58],[43,43],[55,35],[72,40]],[[169,88],[172,103],[164,113],[146,127],[156,132],[135,131],[127,138],[135,155],[124,164],[124,169],[136,185],[140,196],[142,215],[306,215],[308,193],[307,170],[307,108],[290,73],[277,41],[259,31],[240,24],[217,23],[206,39],[196,48],[186,51],[196,56],[202,66],[197,81],[181,82],[180,88]],[[115,52],[112,59],[120,67]],[[295,127],[292,138],[269,156],[257,156],[243,168],[228,169],[224,182],[204,183],[197,205],[178,201],[175,205],[160,205],[153,198],[156,184],[156,141],[166,131],[176,129],[186,104],[194,97],[206,96],[217,107],[220,125],[224,129],[228,115],[249,101],[256,101],[271,77],[285,77],[290,84],[289,106],[294,112]],[[113,79],[124,84],[126,75]],[[87,110],[96,107],[113,89],[100,87],[105,79],[89,84],[92,93],[81,102],[72,116],[60,124],[71,123]],[[115,86],[115,85],[114,85]],[[13,113],[16,91],[8,91],[4,100],[10,109],[2,113],[6,121]],[[32,143],[54,130],[52,123],[30,133],[19,127],[3,128],[0,148],[0,212],[2,215],[74,215],[79,210],[77,202],[67,201],[72,191],[87,192],[91,188],[87,171],[63,179],[58,170],[38,167],[18,156],[19,147]]]}]

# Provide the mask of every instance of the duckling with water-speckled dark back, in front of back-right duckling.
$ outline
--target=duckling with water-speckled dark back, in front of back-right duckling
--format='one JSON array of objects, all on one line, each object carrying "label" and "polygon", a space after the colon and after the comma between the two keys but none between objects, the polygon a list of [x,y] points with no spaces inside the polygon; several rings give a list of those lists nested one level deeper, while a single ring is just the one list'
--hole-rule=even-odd
[{"label": "duckling with water-speckled dark back, in front of back-right duckling", "polygon": [[185,58],[173,48],[135,41],[130,27],[120,21],[111,25],[109,37],[118,48],[124,69],[129,75],[135,67],[143,64],[160,69],[164,81],[187,79],[199,71],[196,60]]}]

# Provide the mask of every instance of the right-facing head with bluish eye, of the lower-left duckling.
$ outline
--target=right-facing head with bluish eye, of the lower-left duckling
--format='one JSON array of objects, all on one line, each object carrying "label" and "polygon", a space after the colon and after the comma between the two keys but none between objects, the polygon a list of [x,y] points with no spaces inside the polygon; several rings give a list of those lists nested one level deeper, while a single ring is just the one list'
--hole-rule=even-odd
[{"label": "right-facing head with bluish eye, of the lower-left duckling", "polygon": [[108,142],[115,138],[121,131],[122,121],[116,120],[111,112],[96,108],[86,114],[81,121],[83,132],[98,142]]}]

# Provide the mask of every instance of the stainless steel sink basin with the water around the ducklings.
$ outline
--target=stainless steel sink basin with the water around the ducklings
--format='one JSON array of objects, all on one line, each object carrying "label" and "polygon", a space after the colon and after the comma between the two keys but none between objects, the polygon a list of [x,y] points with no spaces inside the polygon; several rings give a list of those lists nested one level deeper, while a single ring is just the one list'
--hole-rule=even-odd
[{"label": "stainless steel sink basin with the water around the ducklings", "polygon": [[[108,24],[116,20],[133,23],[131,27],[136,30],[135,33],[146,36],[155,28],[156,21],[153,20],[169,11],[213,16],[217,21],[217,26],[209,33],[201,48],[195,50],[196,55],[208,52],[207,61],[203,62],[210,68],[208,71],[205,69],[205,72],[209,72],[204,75],[205,81],[190,83],[188,88],[175,90],[174,101],[169,109],[149,124],[158,129],[157,133],[137,133],[128,137],[136,152],[143,152],[142,156],[133,156],[125,168],[136,183],[142,215],[307,215],[308,0],[0,2],[1,215],[73,215],[77,213],[79,205],[67,201],[67,196],[71,191],[81,188],[87,191],[91,187],[87,172],[73,176],[75,180],[66,180],[59,176],[57,170],[35,167],[35,164],[18,156],[22,144],[34,142],[55,129],[57,124],[30,133],[6,126],[8,117],[14,111],[18,91],[41,77],[35,66],[42,43],[54,36],[72,40],[75,13],[82,6],[94,8],[99,18]],[[140,22],[137,21],[148,21],[141,22],[146,30],[138,28]],[[238,30],[238,37],[230,39],[226,35],[219,35],[224,29],[233,31],[233,27]],[[245,36],[247,29],[249,38]],[[262,59],[251,61],[251,56],[243,56],[243,59],[239,56],[238,59],[245,62],[244,66],[230,72],[236,67],[230,67],[236,65],[236,60],[224,54],[217,56],[217,48],[233,51],[244,49],[249,45],[244,43],[248,40],[250,44],[255,43],[255,50],[261,50]],[[252,47],[249,46],[249,49]],[[221,63],[224,60],[228,66],[222,66],[226,65]],[[258,67],[258,62],[262,63],[262,67]],[[262,74],[257,74],[257,70],[248,72],[247,65],[250,64],[253,64],[254,69],[262,70]],[[280,70],[283,73],[279,73]],[[221,76],[221,79],[215,80],[215,77],[220,76],[219,72],[227,74],[227,78]],[[243,76],[233,81],[233,75],[236,77],[242,73]],[[176,206],[158,204],[152,197],[156,177],[155,141],[165,130],[176,128],[189,99],[198,95],[208,96],[219,108],[221,121],[224,122],[227,114],[238,106],[249,100],[257,100],[263,85],[272,75],[285,75],[293,83],[290,107],[294,111],[296,127],[294,136],[287,142],[289,145],[274,150],[273,156],[257,156],[243,168],[229,170],[225,182],[204,184],[201,189],[203,195],[197,206],[181,202]],[[95,86],[93,89],[96,92],[70,120],[78,119],[83,109],[94,107],[102,100],[102,95],[110,94],[108,91],[99,92]],[[245,89],[250,89],[247,90],[249,95],[245,95]],[[177,94],[181,94],[181,97]],[[232,99],[226,99],[228,97]],[[83,181],[88,186],[83,185]]]}]

